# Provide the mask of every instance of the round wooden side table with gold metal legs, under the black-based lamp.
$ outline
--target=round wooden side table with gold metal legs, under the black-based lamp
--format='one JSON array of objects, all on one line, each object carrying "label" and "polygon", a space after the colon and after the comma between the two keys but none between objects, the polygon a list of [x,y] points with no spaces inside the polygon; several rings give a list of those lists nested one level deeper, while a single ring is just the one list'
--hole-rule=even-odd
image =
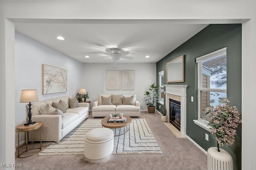
[{"label": "round wooden side table with gold metal legs, under the black-based lamp", "polygon": [[[36,122],[36,125],[33,125],[33,126],[24,126],[22,124],[22,125],[19,125],[16,127],[16,129],[18,130],[18,158],[26,158],[26,157],[35,155],[42,150],[42,126],[43,125],[44,125],[43,122]],[[23,156],[23,157],[20,156],[21,154],[24,154],[25,152],[29,151],[28,150],[28,131],[36,130],[38,128],[40,128],[40,148],[34,148],[34,149],[40,149],[40,150],[32,155],[29,155],[29,156]],[[26,133],[26,151],[22,152],[21,154],[20,154],[20,132]],[[30,150],[34,150],[34,149],[30,149]]]}]

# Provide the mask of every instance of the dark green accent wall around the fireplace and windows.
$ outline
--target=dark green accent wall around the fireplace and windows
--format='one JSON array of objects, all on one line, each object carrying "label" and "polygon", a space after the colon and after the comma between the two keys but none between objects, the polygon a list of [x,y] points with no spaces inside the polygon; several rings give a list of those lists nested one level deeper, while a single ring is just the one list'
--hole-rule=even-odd
[{"label": "dark green accent wall around the fireplace and windows", "polygon": [[[158,72],[164,70],[163,84],[188,85],[187,87],[187,135],[207,151],[210,147],[217,147],[214,136],[202,127],[194,124],[197,119],[197,64],[196,57],[200,57],[212,51],[227,47],[227,98],[230,105],[235,105],[241,114],[242,110],[242,25],[241,24],[210,24],[198,34],[174,49],[156,63],[156,75],[158,84]],[[185,56],[184,82],[167,83],[166,63]],[[194,102],[191,102],[191,96]],[[159,108],[159,103],[156,108]],[[235,144],[222,146],[233,158],[234,170],[241,169],[242,135],[241,126],[237,129]],[[209,134],[209,141],[205,140],[205,134]]]}]

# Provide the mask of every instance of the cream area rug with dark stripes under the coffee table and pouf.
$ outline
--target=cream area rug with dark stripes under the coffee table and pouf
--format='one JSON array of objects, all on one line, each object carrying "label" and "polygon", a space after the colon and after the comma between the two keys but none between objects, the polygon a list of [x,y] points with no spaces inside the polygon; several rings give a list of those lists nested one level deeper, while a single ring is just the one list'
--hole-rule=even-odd
[{"label": "cream area rug with dark stripes under the coffee table and pouf", "polygon": [[[58,144],[52,143],[38,155],[84,154],[85,134],[98,127],[102,127],[101,119],[86,119]],[[123,133],[123,131],[124,128],[116,129],[116,134]],[[114,137],[112,154],[162,154],[162,152],[146,120],[133,119],[128,132]]]}]

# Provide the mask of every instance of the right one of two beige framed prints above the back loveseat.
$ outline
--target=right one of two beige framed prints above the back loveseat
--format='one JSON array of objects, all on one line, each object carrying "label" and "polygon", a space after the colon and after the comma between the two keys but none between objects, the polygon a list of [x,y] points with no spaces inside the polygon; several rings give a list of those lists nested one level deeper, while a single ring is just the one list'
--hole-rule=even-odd
[{"label": "right one of two beige framed prints above the back loveseat", "polygon": [[122,70],[122,90],[135,89],[135,71]]}]

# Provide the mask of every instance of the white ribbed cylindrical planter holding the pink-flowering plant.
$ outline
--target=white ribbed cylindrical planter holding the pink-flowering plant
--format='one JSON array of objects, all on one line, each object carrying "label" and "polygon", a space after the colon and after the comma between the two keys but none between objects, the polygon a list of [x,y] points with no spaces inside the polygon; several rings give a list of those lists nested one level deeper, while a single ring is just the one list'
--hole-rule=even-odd
[{"label": "white ribbed cylindrical planter holding the pink-flowering plant", "polygon": [[233,170],[232,156],[224,149],[211,147],[207,150],[208,170]]}]

